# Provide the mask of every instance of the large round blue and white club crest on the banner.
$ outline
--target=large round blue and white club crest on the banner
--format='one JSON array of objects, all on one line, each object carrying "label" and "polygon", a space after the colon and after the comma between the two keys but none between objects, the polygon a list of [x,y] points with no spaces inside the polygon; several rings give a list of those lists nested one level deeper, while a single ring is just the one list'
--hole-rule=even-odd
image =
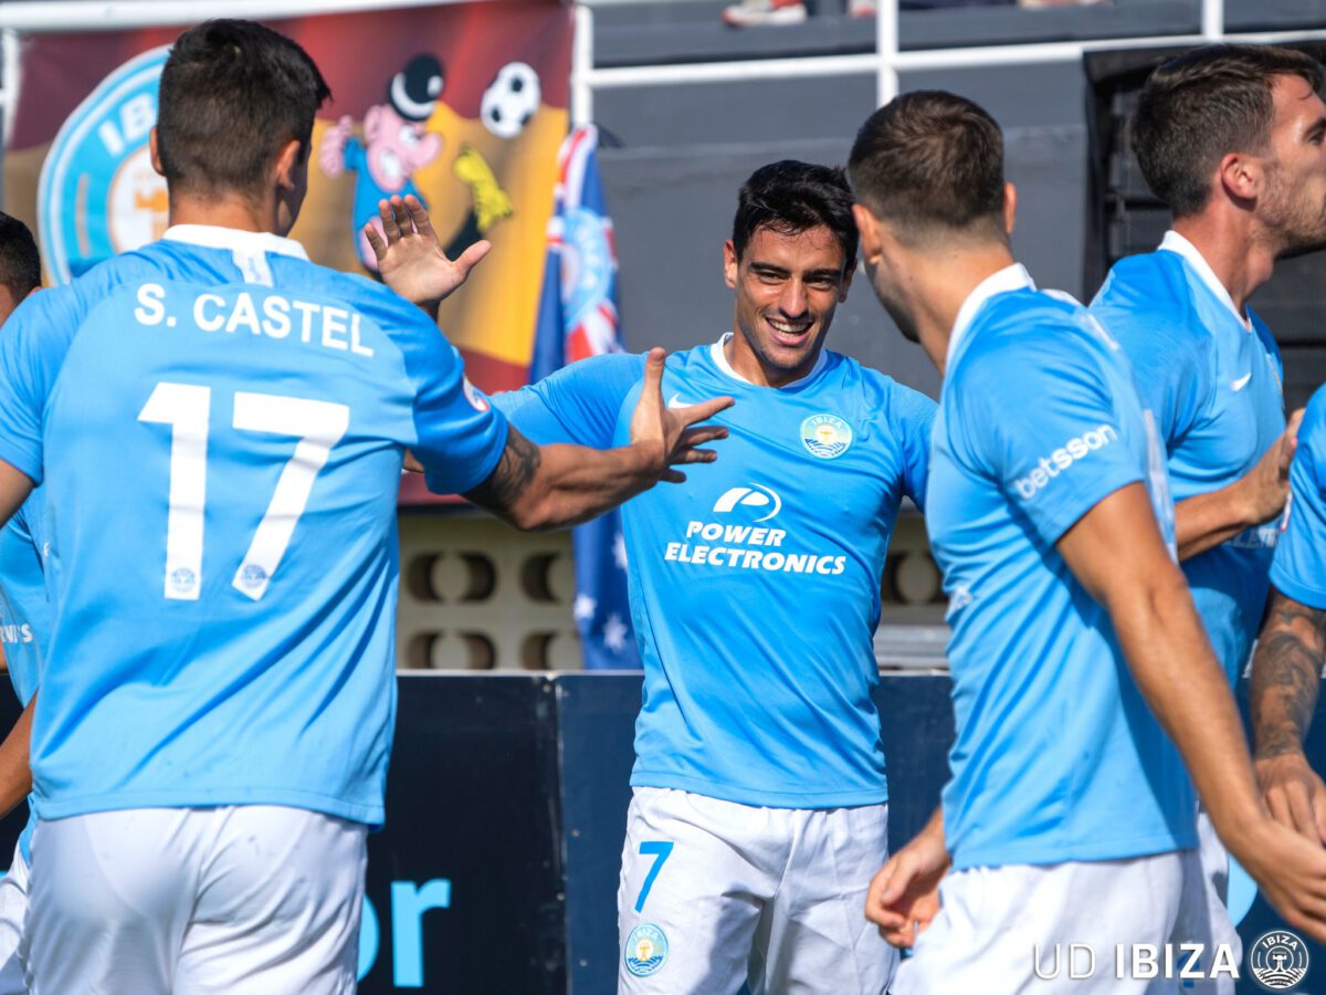
[{"label": "large round blue and white club crest on the banner", "polygon": [[115,69],[50,145],[37,184],[37,227],[57,283],[166,231],[166,180],[152,168],[147,137],[168,52],[163,45]]}]

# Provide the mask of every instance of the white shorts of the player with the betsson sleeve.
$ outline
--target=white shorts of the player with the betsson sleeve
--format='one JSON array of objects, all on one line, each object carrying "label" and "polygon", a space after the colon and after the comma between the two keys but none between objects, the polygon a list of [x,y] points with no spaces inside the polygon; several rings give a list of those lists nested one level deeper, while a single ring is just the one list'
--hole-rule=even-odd
[{"label": "white shorts of the player with the betsson sleeve", "polygon": [[[959,870],[940,884],[943,907],[903,961],[891,992],[1188,992],[1191,980],[1164,976],[1163,951],[1187,942],[1175,934],[1180,909],[1203,901],[1204,889],[1196,850]],[[1146,945],[1156,949],[1154,971]],[[1174,951],[1174,975],[1197,970],[1188,954]],[[1136,970],[1135,954],[1143,958]],[[1204,967],[1209,972],[1212,961]]]}]

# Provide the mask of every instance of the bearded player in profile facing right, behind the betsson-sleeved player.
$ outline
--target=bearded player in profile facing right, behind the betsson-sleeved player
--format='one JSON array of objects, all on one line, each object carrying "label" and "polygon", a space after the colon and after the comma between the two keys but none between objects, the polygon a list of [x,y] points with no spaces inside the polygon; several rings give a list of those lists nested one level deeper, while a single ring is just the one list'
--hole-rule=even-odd
[{"label": "bearded player in profile facing right, behind the betsson-sleeved player", "polygon": [[[1179,559],[1231,685],[1266,608],[1297,431],[1280,350],[1246,302],[1277,257],[1326,243],[1321,84],[1314,58],[1270,45],[1211,45],[1156,69],[1132,142],[1174,228],[1159,251],[1118,263],[1091,305],[1155,413]],[[1197,828],[1209,919],[1192,938],[1237,943],[1228,856],[1204,812]]]}]

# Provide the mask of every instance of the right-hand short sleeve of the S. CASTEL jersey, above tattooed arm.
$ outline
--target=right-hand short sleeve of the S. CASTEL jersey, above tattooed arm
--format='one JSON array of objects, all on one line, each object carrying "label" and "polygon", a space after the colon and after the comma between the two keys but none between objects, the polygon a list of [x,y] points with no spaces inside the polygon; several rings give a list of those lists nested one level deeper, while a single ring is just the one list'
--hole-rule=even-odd
[{"label": "right-hand short sleeve of the S. CASTEL jersey, above tattooed arm", "polygon": [[[411,451],[434,494],[464,494],[497,467],[507,447],[507,418],[465,379],[460,353],[422,312],[406,313],[398,334],[414,386],[416,442]],[[404,324],[404,322],[402,322]]]}]

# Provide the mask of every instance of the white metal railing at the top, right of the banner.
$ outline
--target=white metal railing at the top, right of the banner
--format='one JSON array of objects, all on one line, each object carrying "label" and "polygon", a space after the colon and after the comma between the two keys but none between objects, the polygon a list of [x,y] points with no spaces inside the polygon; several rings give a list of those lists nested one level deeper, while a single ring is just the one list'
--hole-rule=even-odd
[{"label": "white metal railing at the top, right of the banner", "polygon": [[[983,66],[1037,65],[1075,62],[1086,52],[1103,49],[1154,48],[1162,45],[1200,45],[1237,38],[1240,41],[1289,41],[1305,37],[1326,38],[1321,29],[1231,33],[1225,32],[1224,0],[1200,0],[1200,34],[1163,34],[1152,37],[1091,38],[1085,41],[1050,41],[1014,45],[977,45],[968,48],[934,48],[899,50],[898,0],[879,0],[875,17],[875,50],[845,56],[806,56],[804,58],[740,60],[686,65],[642,65],[598,68],[594,65],[594,8],[618,7],[640,0],[582,0],[575,8],[575,49],[572,60],[572,122],[594,119],[594,93],[626,86],[672,86],[678,84],[751,82],[757,80],[792,80],[798,77],[875,76],[875,98],[882,106],[899,89],[899,74],[926,69],[979,69]],[[1034,15],[1030,15],[1034,16]]]}]

